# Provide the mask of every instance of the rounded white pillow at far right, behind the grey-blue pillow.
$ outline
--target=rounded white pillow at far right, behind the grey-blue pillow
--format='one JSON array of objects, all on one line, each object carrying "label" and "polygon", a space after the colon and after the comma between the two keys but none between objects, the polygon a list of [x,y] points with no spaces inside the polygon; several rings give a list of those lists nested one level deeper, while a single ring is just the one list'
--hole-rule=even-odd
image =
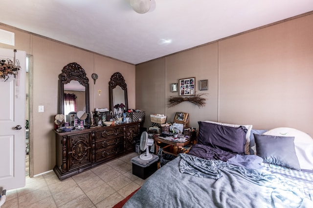
[{"label": "rounded white pillow at far right, behind the grey-blue pillow", "polygon": [[275,128],[263,134],[272,136],[294,136],[295,153],[298,157],[300,168],[313,170],[313,138],[309,134],[287,127]]}]

